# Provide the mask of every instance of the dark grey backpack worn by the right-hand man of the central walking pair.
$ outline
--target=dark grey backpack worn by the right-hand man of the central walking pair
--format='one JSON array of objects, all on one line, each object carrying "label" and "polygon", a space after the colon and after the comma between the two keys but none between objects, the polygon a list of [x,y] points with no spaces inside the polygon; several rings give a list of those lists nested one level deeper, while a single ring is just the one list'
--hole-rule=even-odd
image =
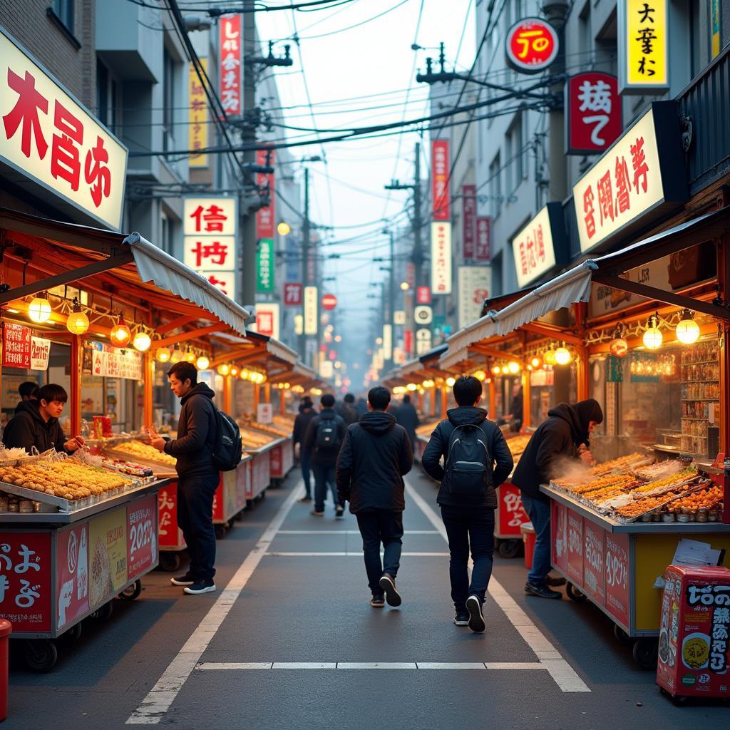
[{"label": "dark grey backpack worn by the right-hand man of the central walking pair", "polygon": [[493,459],[481,426],[467,423],[451,432],[444,465],[446,487],[453,496],[483,497],[492,483]]}]

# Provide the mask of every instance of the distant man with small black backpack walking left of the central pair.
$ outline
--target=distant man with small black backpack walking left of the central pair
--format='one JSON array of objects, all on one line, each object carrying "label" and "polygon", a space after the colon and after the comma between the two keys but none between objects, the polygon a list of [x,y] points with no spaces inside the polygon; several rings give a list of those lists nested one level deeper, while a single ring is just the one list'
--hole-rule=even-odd
[{"label": "distant man with small black backpack walking left of the central pair", "polygon": [[315,508],[312,510],[315,517],[324,515],[327,488],[332,493],[335,517],[339,519],[345,514],[345,507],[337,498],[335,483],[337,454],[345,440],[345,431],[345,420],[334,412],[334,396],[325,393],[320,398],[319,415],[310,420],[304,437],[304,448],[312,455],[312,471],[315,473]]}]

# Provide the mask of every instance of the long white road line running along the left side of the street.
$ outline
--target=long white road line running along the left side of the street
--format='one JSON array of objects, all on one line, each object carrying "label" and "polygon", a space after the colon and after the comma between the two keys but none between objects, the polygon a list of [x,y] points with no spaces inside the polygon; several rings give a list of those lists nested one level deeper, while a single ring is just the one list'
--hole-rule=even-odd
[{"label": "long white road line running along the left side of the street", "polygon": [[220,629],[220,625],[241,594],[251,574],[266,554],[266,550],[269,550],[272,540],[283,525],[289,510],[291,510],[300,493],[301,490],[298,487],[292,489],[274,519],[264,530],[261,539],[258,540],[253,550],[248,553],[245,561],[239,566],[226,588],[220,591],[215,604],[212,605],[205,618],[199,623],[198,628],[193,631],[191,637],[177,653],[177,656],[172,660],[157,684],[142,700],[142,704],[137,707],[137,710],[134,710],[131,717],[128,718],[127,725],[156,725],[161,721],[177,693],[180,692],[180,689],[200,661],[203,652],[208,648],[212,638]]}]

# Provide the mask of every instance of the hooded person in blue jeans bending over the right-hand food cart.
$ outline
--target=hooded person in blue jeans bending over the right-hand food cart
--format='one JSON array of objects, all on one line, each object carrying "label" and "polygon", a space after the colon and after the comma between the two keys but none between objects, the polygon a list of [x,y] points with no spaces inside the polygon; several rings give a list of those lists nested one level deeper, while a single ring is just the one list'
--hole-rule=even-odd
[{"label": "hooded person in blue jeans bending over the right-hand food cart", "polygon": [[589,398],[574,405],[559,403],[548,411],[532,434],[512,475],[512,483],[520,488],[522,503],[535,529],[532,568],[527,575],[525,592],[540,598],[560,599],[562,593],[550,586],[563,585],[564,578],[552,578],[550,572],[550,499],[540,491],[556,476],[566,461],[592,464],[588,451],[591,432],[603,420],[598,401]]}]

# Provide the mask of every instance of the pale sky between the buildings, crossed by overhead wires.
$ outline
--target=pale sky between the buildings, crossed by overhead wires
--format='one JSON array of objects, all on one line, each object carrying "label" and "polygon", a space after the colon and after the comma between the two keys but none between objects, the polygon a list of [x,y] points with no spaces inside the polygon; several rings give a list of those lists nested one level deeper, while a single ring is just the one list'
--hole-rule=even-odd
[{"label": "pale sky between the buildings, crossed by overhead wires", "polygon": [[[416,83],[415,73],[425,70],[427,55],[438,55],[439,42],[446,44],[448,68],[461,43],[457,69],[469,69],[475,52],[474,5],[475,0],[355,0],[318,12],[257,13],[262,41],[290,37],[295,22],[301,38],[301,55],[292,44],[293,67],[277,72],[282,106],[296,105],[296,109],[283,112],[286,119],[280,121],[306,128],[341,129],[426,115],[429,86]],[[364,22],[388,9],[391,12],[383,17]],[[358,23],[364,24],[344,29]],[[414,42],[427,50],[412,51]],[[283,53],[282,45],[274,51],[277,55]],[[307,106],[304,80],[314,105],[314,118]],[[375,94],[380,96],[365,98]],[[333,101],[336,103],[325,103]],[[299,131],[288,134],[290,139],[310,136]],[[327,226],[370,223],[337,231],[339,239],[380,231],[383,225],[372,222],[401,213],[408,196],[405,191],[389,196],[383,186],[391,178],[401,182],[412,180],[413,149],[418,139],[417,134],[407,133],[325,145],[327,166],[310,164],[310,218]],[[428,139],[425,141],[427,144]],[[318,145],[295,148],[292,153],[295,157],[323,154]],[[421,164],[426,177],[428,169],[423,158]],[[379,250],[363,251],[377,244],[381,245]],[[348,249],[352,252],[349,255]],[[355,253],[358,250],[361,253]],[[342,345],[346,345],[345,359],[353,361],[364,355],[364,337],[373,316],[364,310],[377,303],[366,299],[366,293],[374,291],[370,282],[379,282],[385,276],[378,271],[383,264],[374,264],[372,258],[388,254],[387,239],[374,234],[328,251],[342,255],[339,260],[326,263],[326,275],[338,277],[336,282],[326,285],[326,291],[338,297],[338,328],[343,336]],[[356,373],[350,371],[350,375]]]}]

